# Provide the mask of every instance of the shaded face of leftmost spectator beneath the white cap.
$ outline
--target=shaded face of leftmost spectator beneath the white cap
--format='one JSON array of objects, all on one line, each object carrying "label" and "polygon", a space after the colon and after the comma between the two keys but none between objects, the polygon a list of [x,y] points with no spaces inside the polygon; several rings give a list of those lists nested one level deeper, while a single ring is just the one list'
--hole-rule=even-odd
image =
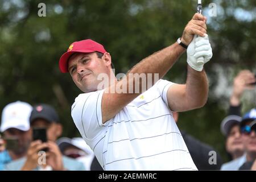
[{"label": "shaded face of leftmost spectator beneath the white cap", "polygon": [[15,128],[7,129],[3,132],[5,138],[16,138],[18,139],[18,147],[13,151],[14,154],[20,155],[27,151],[28,146],[32,140],[31,130],[22,131]]}]

